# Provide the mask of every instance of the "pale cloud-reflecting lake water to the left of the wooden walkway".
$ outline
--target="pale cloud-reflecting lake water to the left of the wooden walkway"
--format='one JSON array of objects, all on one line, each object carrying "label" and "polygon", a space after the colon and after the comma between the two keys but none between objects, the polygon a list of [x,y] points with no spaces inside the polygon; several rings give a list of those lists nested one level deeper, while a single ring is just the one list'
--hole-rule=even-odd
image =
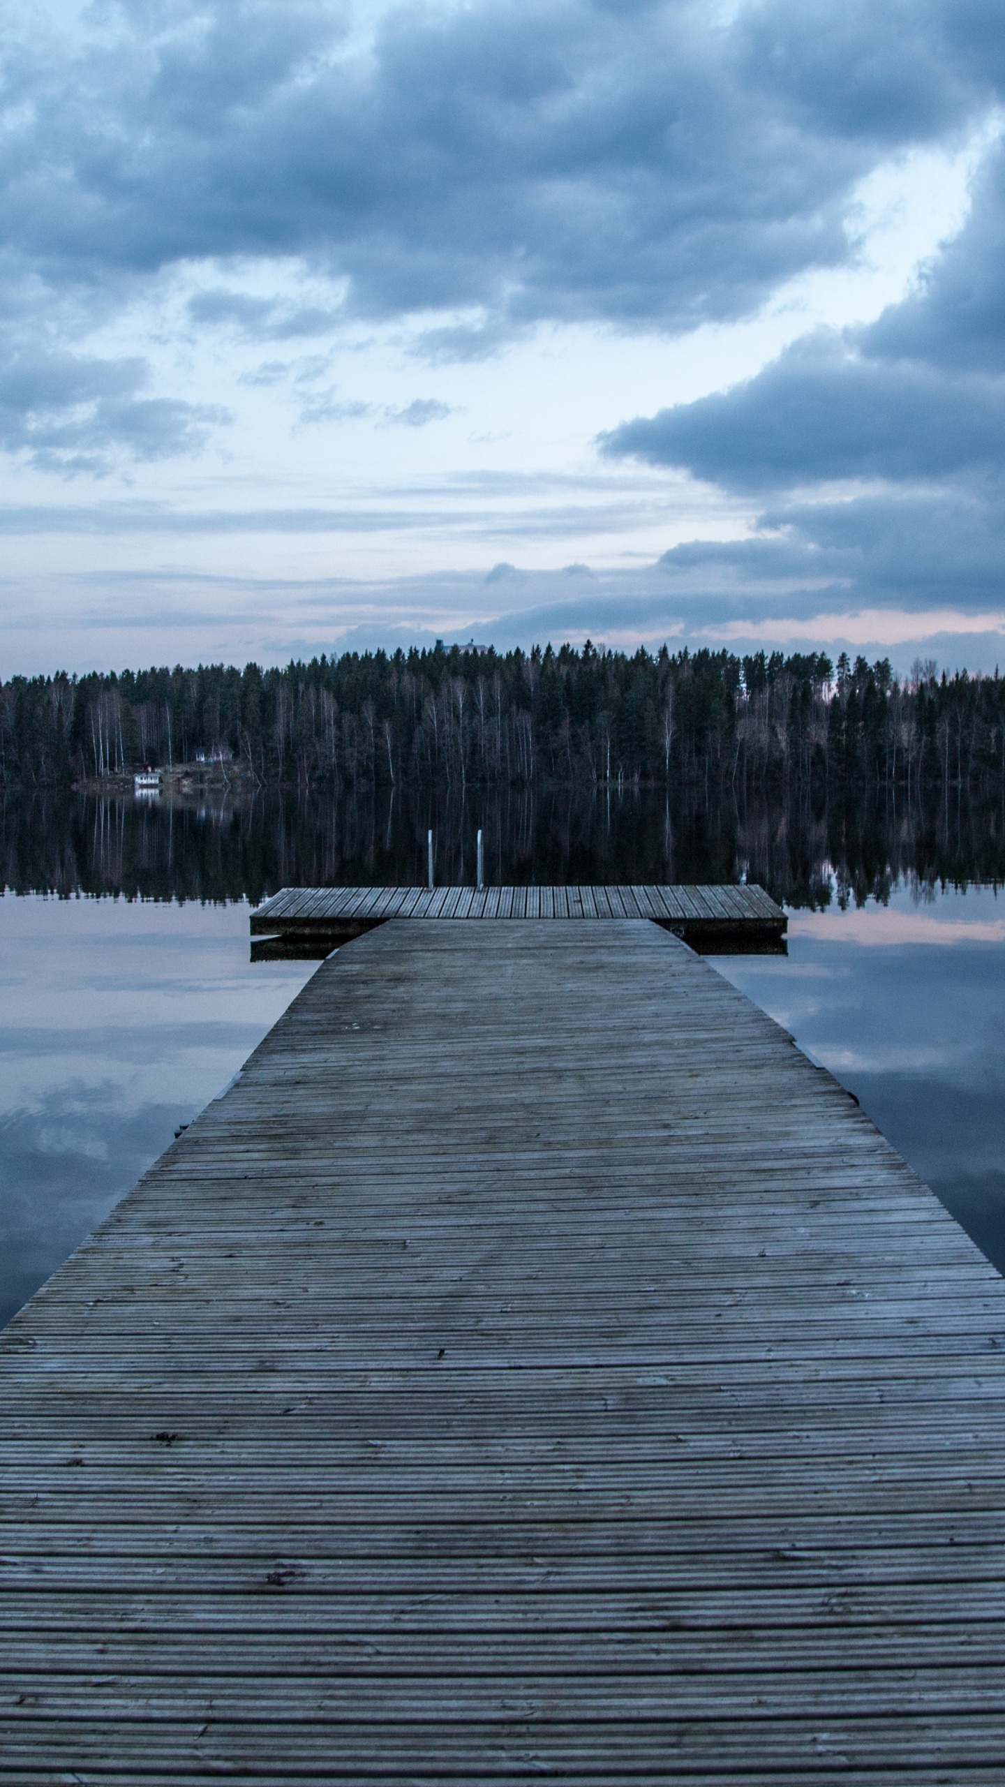
[{"label": "pale cloud-reflecting lake water to the left of the wooden walkway", "polygon": [[0,1322],[227,1085],[313,963],[247,906],[0,899]]}]

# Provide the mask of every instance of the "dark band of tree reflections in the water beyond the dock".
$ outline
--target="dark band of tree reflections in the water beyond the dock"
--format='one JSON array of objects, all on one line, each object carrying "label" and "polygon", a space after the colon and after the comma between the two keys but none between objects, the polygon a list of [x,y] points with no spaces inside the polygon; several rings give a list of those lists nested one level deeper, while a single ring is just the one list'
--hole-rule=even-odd
[{"label": "dark band of tree reflections in the water beyond the dock", "polygon": [[1000,804],[667,799],[663,790],[508,786],[283,793],[241,804],[23,795],[0,808],[5,885],[16,892],[250,899],[284,885],[472,883],[485,833],[490,883],[760,881],[819,906],[921,886],[1005,881]]}]

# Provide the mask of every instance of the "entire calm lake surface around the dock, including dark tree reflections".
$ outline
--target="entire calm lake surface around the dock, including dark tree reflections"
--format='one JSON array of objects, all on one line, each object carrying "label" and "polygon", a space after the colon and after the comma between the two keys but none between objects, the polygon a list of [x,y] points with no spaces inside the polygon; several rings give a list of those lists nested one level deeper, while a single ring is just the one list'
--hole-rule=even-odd
[{"label": "entire calm lake surface around the dock, including dark tree reflections", "polygon": [[[415,881],[433,817],[399,811],[388,827],[386,813],[356,810],[318,829],[302,802],[272,817],[265,802],[258,817],[29,806],[4,817],[0,1321],[224,1090],[315,972],[250,965],[243,895]],[[651,801],[608,820],[604,808],[517,802],[477,817],[495,826],[506,879],[733,879],[756,870],[760,838],[749,879],[787,897],[789,956],[714,967],[857,1094],[1005,1271],[1005,894],[971,881],[989,867],[1001,879],[1000,829],[948,811],[942,829],[939,815],[842,815],[835,847],[833,815],[688,822]],[[467,877],[470,818],[440,838],[442,879]],[[957,886],[933,879],[950,860]]]}]

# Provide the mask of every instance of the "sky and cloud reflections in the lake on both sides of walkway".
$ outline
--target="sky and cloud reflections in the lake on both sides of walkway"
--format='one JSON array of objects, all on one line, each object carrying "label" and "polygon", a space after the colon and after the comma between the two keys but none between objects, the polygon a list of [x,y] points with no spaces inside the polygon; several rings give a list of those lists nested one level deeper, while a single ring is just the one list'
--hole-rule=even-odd
[{"label": "sky and cloud reflections in the lake on both sides of walkway", "polygon": [[[1000,1267],[1003,933],[991,888],[923,904],[898,888],[889,906],[794,913],[787,960],[714,963],[858,1095]],[[243,904],[39,897],[0,899],[0,963],[2,1321],[227,1085],[313,963],[252,969]]]}]

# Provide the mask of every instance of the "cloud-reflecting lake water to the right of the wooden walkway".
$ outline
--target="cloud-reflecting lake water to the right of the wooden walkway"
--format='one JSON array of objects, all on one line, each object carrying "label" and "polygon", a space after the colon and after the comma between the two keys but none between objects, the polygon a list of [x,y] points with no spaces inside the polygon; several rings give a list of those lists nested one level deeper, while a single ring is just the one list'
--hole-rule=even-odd
[{"label": "cloud-reflecting lake water to the right of the wooden walkway", "polygon": [[792,913],[787,960],[715,963],[855,1092],[1000,1271],[1003,944],[994,888],[935,890],[921,902],[899,886],[889,906]]}]

